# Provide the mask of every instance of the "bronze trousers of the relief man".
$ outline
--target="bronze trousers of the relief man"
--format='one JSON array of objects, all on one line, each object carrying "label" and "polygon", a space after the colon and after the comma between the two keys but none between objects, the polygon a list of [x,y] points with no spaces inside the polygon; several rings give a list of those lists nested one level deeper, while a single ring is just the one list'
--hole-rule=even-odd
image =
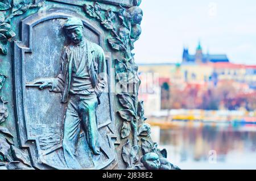
[{"label": "bronze trousers of the relief man", "polygon": [[75,152],[81,129],[85,132],[89,148],[100,155],[96,110],[98,100],[95,92],[90,95],[71,95],[64,117],[63,151],[67,166],[80,169]]}]

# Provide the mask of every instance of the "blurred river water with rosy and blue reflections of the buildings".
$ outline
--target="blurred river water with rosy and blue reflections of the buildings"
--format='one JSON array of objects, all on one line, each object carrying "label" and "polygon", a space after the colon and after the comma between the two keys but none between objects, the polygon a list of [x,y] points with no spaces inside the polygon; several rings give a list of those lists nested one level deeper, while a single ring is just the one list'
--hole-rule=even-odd
[{"label": "blurred river water with rosy and blue reflections of the buildings", "polygon": [[181,169],[256,169],[256,124],[179,123],[160,131],[160,148]]}]

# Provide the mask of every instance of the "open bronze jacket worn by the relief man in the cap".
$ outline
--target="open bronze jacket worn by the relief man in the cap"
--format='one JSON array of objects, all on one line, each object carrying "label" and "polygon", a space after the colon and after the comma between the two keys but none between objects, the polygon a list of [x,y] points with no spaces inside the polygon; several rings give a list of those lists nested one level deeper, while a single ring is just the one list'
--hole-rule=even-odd
[{"label": "open bronze jacket worn by the relief man in the cap", "polygon": [[[88,71],[94,91],[96,92],[98,103],[100,95],[107,85],[106,60],[104,50],[97,44],[88,40],[85,41],[86,55],[88,57]],[[67,103],[69,90],[72,83],[72,45],[65,47],[61,56],[60,74],[52,81],[52,90],[62,92],[61,102]]]}]

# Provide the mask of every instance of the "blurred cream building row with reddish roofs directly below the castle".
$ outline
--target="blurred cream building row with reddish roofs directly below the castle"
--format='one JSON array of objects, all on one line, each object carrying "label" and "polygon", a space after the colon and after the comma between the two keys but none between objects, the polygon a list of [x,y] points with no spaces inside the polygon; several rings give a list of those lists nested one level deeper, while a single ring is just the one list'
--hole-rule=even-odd
[{"label": "blurred cream building row with reddish roofs directly below the castle", "polygon": [[[232,64],[230,62],[209,62],[207,64],[144,64],[139,65],[141,73],[158,73],[159,85],[169,79],[169,86],[179,85],[185,89],[187,83],[204,85],[218,81],[236,81],[247,83],[256,90],[256,66]],[[162,81],[162,82],[161,82]],[[167,81],[166,81],[167,82]]]}]

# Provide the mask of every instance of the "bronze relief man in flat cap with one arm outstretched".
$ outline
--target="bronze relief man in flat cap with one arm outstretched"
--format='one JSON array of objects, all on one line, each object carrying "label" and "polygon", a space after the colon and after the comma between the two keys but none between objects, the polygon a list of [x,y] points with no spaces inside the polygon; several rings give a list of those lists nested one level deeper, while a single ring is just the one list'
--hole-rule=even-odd
[{"label": "bronze relief man in flat cap with one arm outstretched", "polygon": [[62,93],[67,103],[64,117],[63,151],[70,169],[80,169],[76,157],[77,141],[84,131],[93,155],[100,157],[96,110],[107,85],[104,50],[84,37],[84,26],[79,18],[68,18],[63,26],[71,42],[61,55],[60,74],[55,78],[40,78],[39,89]]}]

